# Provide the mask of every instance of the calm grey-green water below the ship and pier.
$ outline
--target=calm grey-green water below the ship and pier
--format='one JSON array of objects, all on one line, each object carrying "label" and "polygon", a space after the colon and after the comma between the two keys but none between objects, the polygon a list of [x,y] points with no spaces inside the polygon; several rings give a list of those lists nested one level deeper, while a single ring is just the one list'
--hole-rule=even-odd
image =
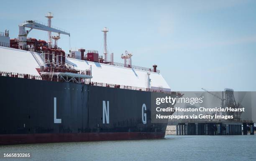
[{"label": "calm grey-green water below the ship and pier", "polygon": [[[31,153],[31,158],[3,158]],[[0,146],[0,160],[256,160],[254,136],[176,136],[159,140],[45,143]]]}]

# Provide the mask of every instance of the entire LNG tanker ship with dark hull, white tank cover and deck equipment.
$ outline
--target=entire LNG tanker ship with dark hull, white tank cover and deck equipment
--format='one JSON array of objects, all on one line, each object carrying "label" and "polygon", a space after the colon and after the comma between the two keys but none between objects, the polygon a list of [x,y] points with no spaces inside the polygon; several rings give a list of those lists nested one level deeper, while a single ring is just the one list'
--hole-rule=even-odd
[{"label": "entire LNG tanker ship with dark hull, white tank cover and deck equipment", "polygon": [[[70,34],[46,17],[48,25],[20,24],[18,38],[0,34],[0,145],[164,138],[168,120],[151,122],[152,98],[179,93],[157,66],[134,66],[129,52],[115,63],[107,28],[104,58],[83,48],[67,54],[56,41]],[[32,29],[47,31],[48,42],[28,38]]]}]

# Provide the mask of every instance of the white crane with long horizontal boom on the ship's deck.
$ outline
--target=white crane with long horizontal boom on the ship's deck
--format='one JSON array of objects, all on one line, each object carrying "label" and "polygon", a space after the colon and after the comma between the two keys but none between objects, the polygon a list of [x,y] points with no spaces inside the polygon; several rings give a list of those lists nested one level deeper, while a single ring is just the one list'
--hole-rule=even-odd
[{"label": "white crane with long horizontal boom on the ship's deck", "polygon": [[[30,28],[30,30],[26,31],[26,28]],[[18,37],[19,49],[25,49],[26,48],[26,46],[27,46],[27,35],[33,29],[50,31],[50,32],[53,32],[53,33],[69,35],[69,37],[70,37],[70,33],[68,33],[65,30],[51,28],[49,26],[38,23],[36,21],[27,20],[25,23],[19,25],[19,37]]]}]

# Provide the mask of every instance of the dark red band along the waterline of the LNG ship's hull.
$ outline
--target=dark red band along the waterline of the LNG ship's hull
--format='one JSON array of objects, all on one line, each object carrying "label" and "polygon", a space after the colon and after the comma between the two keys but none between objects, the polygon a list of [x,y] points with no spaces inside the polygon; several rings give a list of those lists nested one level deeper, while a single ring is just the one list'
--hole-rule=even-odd
[{"label": "dark red band along the waterline of the LNG ship's hull", "polygon": [[162,132],[35,133],[0,135],[0,145],[164,138]]}]

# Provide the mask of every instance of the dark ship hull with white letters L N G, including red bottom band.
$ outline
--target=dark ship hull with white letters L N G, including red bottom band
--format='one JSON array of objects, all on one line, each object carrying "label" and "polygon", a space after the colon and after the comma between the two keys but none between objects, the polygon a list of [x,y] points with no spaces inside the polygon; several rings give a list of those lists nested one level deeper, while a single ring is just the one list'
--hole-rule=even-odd
[{"label": "dark ship hull with white letters L N G, including red bottom band", "polygon": [[167,121],[151,123],[152,92],[5,76],[0,91],[0,145],[165,135]]}]

